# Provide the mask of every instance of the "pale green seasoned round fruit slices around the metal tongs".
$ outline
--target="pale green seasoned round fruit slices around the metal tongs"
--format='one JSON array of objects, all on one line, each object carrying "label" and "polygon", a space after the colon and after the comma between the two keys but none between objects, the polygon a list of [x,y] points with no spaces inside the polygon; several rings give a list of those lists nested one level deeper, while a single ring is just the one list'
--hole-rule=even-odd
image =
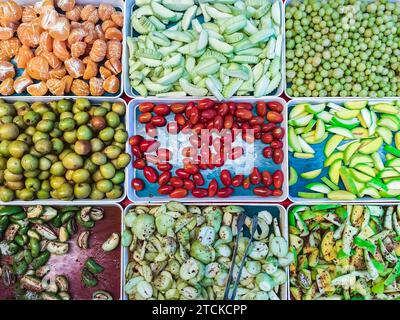
[{"label": "pale green seasoned round fruit slices around the metal tongs", "polygon": [[[238,214],[247,208],[133,206],[125,215],[122,245],[129,262],[125,294],[132,300],[220,300],[232,263]],[[236,299],[279,299],[285,296],[285,268],[293,260],[284,230],[268,210],[256,213],[260,231],[251,244]],[[250,219],[246,220],[248,225]],[[240,264],[249,238],[242,237],[235,260]],[[238,277],[235,267],[233,278]],[[283,292],[283,293],[282,293]]]}]

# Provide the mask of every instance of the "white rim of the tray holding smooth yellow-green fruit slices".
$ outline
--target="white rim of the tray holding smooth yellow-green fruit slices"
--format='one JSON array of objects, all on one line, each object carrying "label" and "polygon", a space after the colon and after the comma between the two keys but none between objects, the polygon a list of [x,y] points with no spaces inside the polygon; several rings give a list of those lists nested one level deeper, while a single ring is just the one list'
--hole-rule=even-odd
[{"label": "white rim of the tray holding smooth yellow-green fruit slices", "polygon": [[[287,118],[289,118],[289,112],[292,107],[299,103],[311,103],[311,104],[320,104],[320,103],[328,103],[328,102],[333,102],[336,104],[343,104],[346,101],[370,101],[370,102],[393,102],[393,101],[398,101],[399,98],[384,98],[384,99],[372,99],[372,98],[296,98],[293,100],[290,100],[287,103]],[[286,135],[287,139],[287,135]],[[288,140],[286,140],[288,142]],[[286,154],[288,160],[290,159],[289,152]],[[325,160],[325,157],[319,158],[320,165],[318,168],[323,168],[323,161]],[[304,160],[305,163],[307,163],[307,159]],[[290,161],[289,161],[289,166],[290,166]],[[308,171],[318,169],[314,167],[310,167]],[[289,178],[289,177],[288,177]],[[309,182],[313,182],[313,180],[309,180]],[[289,192],[288,192],[288,198],[290,201],[295,202],[295,203],[303,203],[303,204],[308,204],[308,203],[313,203],[315,202],[325,202],[325,203],[335,203],[338,202],[337,200],[329,200],[328,198],[322,198],[322,199],[304,199],[300,198],[297,196],[294,196],[291,194],[291,189],[293,186],[289,187]],[[307,191],[307,190],[302,190],[302,191]],[[399,200],[396,198],[382,198],[382,199],[373,199],[371,197],[363,197],[363,198],[357,198],[356,200],[340,200],[341,203],[387,203],[390,201],[396,201],[398,202]]]}]

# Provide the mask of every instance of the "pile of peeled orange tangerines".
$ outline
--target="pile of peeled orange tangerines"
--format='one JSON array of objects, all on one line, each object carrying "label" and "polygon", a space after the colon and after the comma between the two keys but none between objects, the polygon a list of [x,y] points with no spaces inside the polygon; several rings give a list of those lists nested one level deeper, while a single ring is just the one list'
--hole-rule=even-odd
[{"label": "pile of peeled orange tangerines", "polygon": [[0,2],[0,94],[117,93],[122,26],[122,12],[110,4]]}]

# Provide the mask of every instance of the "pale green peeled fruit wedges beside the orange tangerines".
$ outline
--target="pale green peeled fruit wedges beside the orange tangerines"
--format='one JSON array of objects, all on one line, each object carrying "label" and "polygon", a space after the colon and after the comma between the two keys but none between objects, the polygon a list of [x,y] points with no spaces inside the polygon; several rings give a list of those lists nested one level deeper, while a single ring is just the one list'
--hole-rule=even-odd
[{"label": "pale green peeled fruit wedges beside the orange tangerines", "polygon": [[282,6],[136,1],[127,39],[129,87],[143,97],[272,95],[282,81]]}]

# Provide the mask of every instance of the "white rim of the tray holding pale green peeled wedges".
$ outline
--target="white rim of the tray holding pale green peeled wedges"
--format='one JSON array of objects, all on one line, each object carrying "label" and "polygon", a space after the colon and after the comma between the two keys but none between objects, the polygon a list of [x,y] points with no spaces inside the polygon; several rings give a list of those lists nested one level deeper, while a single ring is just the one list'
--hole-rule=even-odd
[{"label": "white rim of the tray holding pale green peeled wedges", "polygon": [[[177,0],[178,1],[178,0]],[[273,0],[265,0],[268,2],[273,2]],[[127,37],[132,36],[133,30],[131,28],[131,16],[132,16],[132,12],[134,10],[135,7],[135,0],[127,0],[125,1],[125,20],[124,20],[124,56],[123,56],[123,65],[124,65],[124,73],[123,73],[123,81],[124,81],[124,92],[127,96],[131,97],[131,98],[135,98],[135,97],[140,97],[137,94],[135,94],[132,90],[132,86],[130,84],[130,80],[129,80],[129,50],[128,50],[128,46],[127,46]],[[282,79],[280,82],[279,87],[275,90],[275,92],[273,94],[271,94],[270,96],[274,96],[274,97],[279,97],[282,95],[284,88],[285,88],[285,84],[286,84],[286,37],[285,37],[285,5],[282,1],[279,1],[280,3],[280,9],[281,9],[281,33],[282,33],[282,52],[281,52],[281,74],[282,74]],[[243,98],[251,98],[251,96],[243,96]],[[199,99],[199,98],[204,98],[204,97],[194,97],[191,96],[192,99]],[[209,96],[209,98],[213,98],[213,96]],[[242,98],[242,96],[235,96],[232,98]],[[232,98],[227,99],[227,100],[232,100]]]}]

